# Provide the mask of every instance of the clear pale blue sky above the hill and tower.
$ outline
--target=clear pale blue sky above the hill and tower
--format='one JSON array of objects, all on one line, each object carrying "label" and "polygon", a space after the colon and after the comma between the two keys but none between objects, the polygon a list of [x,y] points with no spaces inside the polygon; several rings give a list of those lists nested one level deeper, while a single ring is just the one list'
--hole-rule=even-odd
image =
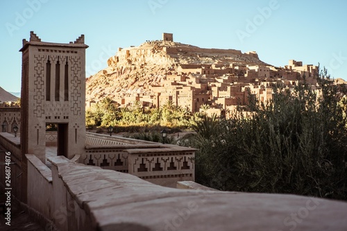
[{"label": "clear pale blue sky above the hill and tower", "polygon": [[22,39],[68,43],[84,34],[87,74],[107,66],[118,47],[174,40],[203,48],[257,51],[264,62],[328,68],[347,80],[347,1],[298,0],[1,0],[0,86],[21,87]]}]

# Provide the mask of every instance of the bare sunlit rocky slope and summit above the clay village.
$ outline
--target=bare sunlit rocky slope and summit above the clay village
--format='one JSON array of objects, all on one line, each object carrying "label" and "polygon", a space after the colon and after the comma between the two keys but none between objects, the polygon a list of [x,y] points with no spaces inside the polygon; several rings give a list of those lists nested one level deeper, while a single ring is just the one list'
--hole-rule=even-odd
[{"label": "bare sunlit rocky slope and summit above the clay village", "polygon": [[166,74],[177,74],[180,65],[242,63],[266,65],[257,53],[237,50],[201,49],[170,41],[149,41],[140,46],[119,49],[108,60],[108,67],[87,78],[86,100],[105,97],[121,99],[151,94],[151,86],[162,85]]}]

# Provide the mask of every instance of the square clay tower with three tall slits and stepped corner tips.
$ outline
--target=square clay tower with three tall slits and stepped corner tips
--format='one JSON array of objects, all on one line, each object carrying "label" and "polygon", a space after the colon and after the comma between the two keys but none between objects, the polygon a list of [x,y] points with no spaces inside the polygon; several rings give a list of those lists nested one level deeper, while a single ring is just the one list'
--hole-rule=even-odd
[{"label": "square clay tower with three tall slits and stepped corner tips", "polygon": [[[42,42],[33,31],[23,40],[21,152],[45,162],[46,124],[58,126],[57,155],[85,151],[84,35],[75,42]],[[69,144],[69,145],[67,145]],[[24,158],[25,159],[25,158]]]}]

